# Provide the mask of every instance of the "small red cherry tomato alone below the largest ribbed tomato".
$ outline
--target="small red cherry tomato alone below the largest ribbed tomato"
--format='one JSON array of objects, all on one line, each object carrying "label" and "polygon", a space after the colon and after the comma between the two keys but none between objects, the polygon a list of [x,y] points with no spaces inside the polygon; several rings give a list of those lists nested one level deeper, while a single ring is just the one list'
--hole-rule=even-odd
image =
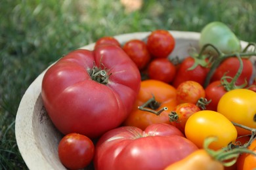
[{"label": "small red cherry tomato alone below the largest ribbed tomato", "polygon": [[65,167],[81,169],[89,165],[95,154],[93,141],[85,135],[69,133],[58,144],[58,157]]}]

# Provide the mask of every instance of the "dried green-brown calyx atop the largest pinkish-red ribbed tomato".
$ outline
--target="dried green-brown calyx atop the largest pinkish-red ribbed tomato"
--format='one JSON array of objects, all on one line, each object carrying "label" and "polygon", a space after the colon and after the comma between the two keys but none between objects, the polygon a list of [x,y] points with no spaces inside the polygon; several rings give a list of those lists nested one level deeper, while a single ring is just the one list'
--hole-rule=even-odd
[{"label": "dried green-brown calyx atop the largest pinkish-red ribbed tomato", "polygon": [[92,69],[88,71],[89,75],[91,76],[92,80],[99,82],[100,84],[108,84],[108,78],[111,74],[108,74],[108,70],[103,68],[100,69],[99,67],[93,66]]}]

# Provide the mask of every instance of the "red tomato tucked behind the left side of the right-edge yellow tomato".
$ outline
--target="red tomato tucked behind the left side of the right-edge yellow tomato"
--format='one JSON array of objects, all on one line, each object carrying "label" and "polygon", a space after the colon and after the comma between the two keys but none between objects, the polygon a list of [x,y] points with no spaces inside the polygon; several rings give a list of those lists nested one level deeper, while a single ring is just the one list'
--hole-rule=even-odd
[{"label": "red tomato tucked behind the left side of the right-edge yellow tomato", "polygon": [[213,110],[217,111],[217,106],[219,103],[219,99],[226,93],[224,86],[221,85],[221,81],[217,80],[214,82],[211,82],[206,88],[205,88],[205,98],[207,101],[211,102],[208,105],[205,105],[205,108],[207,110]]}]

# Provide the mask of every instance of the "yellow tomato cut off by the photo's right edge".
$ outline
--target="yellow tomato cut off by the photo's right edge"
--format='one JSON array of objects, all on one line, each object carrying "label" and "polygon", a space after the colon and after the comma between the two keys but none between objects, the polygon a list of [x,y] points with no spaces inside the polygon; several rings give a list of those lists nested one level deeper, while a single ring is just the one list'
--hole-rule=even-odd
[{"label": "yellow tomato cut off by the photo's right edge", "polygon": [[[256,93],[247,89],[230,90],[221,97],[217,112],[231,122],[256,128]],[[249,135],[251,131],[236,127],[238,135]]]}]

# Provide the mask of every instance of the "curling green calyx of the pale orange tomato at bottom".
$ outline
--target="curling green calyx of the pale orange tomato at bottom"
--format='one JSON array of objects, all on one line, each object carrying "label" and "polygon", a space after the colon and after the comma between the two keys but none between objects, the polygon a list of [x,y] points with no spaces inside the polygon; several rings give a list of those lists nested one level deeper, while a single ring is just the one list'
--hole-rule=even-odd
[{"label": "curling green calyx of the pale orange tomato at bottom", "polygon": [[217,137],[206,138],[203,143],[203,148],[214,160],[221,162],[225,167],[234,165],[242,153],[253,154],[256,156],[252,150],[249,150],[245,146],[230,148],[230,144],[228,144],[228,146],[220,150],[212,150],[209,148],[209,144],[213,143],[214,141],[217,141]]}]

